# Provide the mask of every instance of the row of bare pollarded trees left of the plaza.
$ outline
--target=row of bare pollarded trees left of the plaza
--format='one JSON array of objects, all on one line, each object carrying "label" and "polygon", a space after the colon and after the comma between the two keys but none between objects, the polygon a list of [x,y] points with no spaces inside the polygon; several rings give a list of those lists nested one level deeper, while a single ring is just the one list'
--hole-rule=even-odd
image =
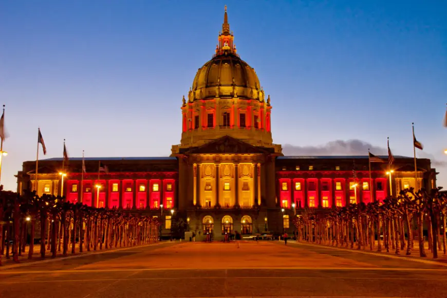
[{"label": "row of bare pollarded trees left of the plaza", "polygon": [[[27,243],[31,259],[35,238],[40,238],[42,258],[48,250],[56,257],[61,252],[66,256],[69,250],[74,254],[148,244],[157,241],[158,226],[152,216],[88,207],[48,194],[17,195],[0,189],[0,265],[2,255],[9,258],[12,254],[18,262]],[[40,235],[35,235],[36,231]]]}]

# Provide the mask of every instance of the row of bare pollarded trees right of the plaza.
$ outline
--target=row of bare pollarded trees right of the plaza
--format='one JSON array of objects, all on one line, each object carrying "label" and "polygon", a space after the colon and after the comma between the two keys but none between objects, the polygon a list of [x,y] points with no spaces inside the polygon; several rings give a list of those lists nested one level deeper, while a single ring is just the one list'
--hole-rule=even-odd
[{"label": "row of bare pollarded trees right of the plaza", "polygon": [[383,202],[350,204],[329,213],[311,210],[293,219],[298,241],[337,247],[367,249],[411,255],[417,240],[419,255],[426,256],[424,227],[433,257],[446,254],[447,195],[405,189]]}]

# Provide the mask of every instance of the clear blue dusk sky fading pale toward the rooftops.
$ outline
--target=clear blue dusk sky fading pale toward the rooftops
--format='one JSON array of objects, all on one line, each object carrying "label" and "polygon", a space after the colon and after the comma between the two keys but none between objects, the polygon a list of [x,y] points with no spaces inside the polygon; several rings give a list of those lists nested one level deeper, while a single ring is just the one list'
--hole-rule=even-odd
[{"label": "clear blue dusk sky fading pale toward the rooftops", "polygon": [[2,183],[40,158],[169,156],[181,98],[212,58],[228,5],[240,57],[271,97],[291,155],[413,156],[411,123],[447,186],[445,1],[0,3]]}]

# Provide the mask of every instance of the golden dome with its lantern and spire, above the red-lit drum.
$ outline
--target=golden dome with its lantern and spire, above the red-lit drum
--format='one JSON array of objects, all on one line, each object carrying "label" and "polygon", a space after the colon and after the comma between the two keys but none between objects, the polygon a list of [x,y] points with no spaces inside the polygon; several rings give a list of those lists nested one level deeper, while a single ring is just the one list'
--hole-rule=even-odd
[{"label": "golden dome with its lantern and spire, above the red-lit drum", "polygon": [[189,92],[190,102],[216,97],[264,100],[264,92],[254,68],[236,54],[233,39],[225,8],[224,24],[219,32],[216,53],[213,59],[198,69]]}]

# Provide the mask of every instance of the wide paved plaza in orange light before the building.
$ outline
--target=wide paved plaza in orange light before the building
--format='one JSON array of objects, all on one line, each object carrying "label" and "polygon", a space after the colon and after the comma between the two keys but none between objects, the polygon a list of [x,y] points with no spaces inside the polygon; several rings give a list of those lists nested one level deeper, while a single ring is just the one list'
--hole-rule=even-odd
[{"label": "wide paved plaza in orange light before the building", "polygon": [[0,297],[447,297],[446,281],[445,264],[419,258],[177,241],[6,266]]}]

